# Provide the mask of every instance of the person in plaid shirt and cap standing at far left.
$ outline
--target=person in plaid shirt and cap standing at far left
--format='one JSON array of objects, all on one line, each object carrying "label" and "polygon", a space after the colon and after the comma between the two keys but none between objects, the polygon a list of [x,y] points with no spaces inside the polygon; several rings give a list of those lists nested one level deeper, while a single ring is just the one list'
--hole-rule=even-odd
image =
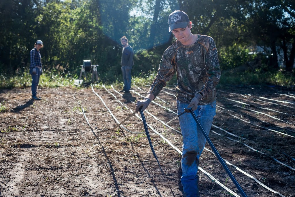
[{"label": "person in plaid shirt and cap standing at far left", "polygon": [[32,75],[32,98],[40,100],[37,96],[37,86],[39,84],[40,75],[42,74],[42,63],[40,49],[43,47],[42,40],[37,40],[35,47],[30,51],[30,74]]}]

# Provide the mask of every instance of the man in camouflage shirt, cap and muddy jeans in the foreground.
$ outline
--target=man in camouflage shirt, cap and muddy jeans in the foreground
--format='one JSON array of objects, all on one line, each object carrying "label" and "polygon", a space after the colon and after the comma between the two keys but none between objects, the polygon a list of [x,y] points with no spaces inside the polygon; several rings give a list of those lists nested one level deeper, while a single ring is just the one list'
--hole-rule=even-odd
[{"label": "man in camouflage shirt, cap and muddy jeans in the foreground", "polygon": [[[207,134],[216,115],[216,85],[220,79],[217,49],[212,37],[193,35],[188,15],[180,10],[169,15],[169,32],[176,41],[163,53],[158,73],[136,111],[145,110],[166,82],[177,75],[177,111],[192,109]],[[183,137],[181,184],[186,197],[199,197],[199,157],[206,138],[190,113],[178,117]]]}]

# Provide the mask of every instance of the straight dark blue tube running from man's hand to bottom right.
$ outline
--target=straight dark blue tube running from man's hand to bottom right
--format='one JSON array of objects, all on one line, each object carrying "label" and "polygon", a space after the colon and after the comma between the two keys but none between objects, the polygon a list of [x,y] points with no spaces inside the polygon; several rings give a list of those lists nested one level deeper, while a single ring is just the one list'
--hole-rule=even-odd
[{"label": "straight dark blue tube running from man's hand to bottom right", "polygon": [[213,143],[211,142],[211,140],[209,139],[207,133],[204,131],[203,127],[201,126],[200,122],[198,121],[196,115],[194,114],[194,111],[191,109],[184,109],[184,111],[186,112],[191,112],[191,115],[193,116],[193,118],[195,119],[197,125],[201,128],[201,132],[204,134],[205,138],[207,139],[207,142],[209,143],[209,145],[211,146],[212,150],[214,151],[216,157],[218,158],[218,160],[220,161],[220,163],[222,164],[223,168],[225,169],[225,171],[227,172],[227,174],[230,176],[230,178],[232,179],[232,182],[235,183],[237,189],[240,191],[240,193],[242,194],[243,197],[247,197],[247,195],[245,194],[245,192],[243,191],[243,189],[241,188],[241,186],[239,185],[239,183],[237,182],[237,180],[235,179],[234,175],[232,175],[232,173],[230,172],[230,170],[227,168],[227,165],[224,163],[222,157],[219,155],[219,153],[217,152],[216,148],[214,147]]}]

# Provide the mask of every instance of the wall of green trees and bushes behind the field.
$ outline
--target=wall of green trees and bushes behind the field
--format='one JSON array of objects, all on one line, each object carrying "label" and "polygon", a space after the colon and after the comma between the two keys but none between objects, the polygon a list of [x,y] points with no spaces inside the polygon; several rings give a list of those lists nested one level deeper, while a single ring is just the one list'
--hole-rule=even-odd
[{"label": "wall of green trees and bushes behind the field", "polygon": [[[189,14],[194,34],[214,38],[222,80],[234,83],[233,71],[230,75],[228,70],[259,60],[260,70],[252,69],[246,83],[256,83],[266,73],[268,83],[293,83],[295,9],[289,1],[6,0],[0,1],[0,88],[30,86],[29,52],[39,39],[44,43],[40,53],[45,71],[40,86],[73,84],[86,59],[99,65],[100,82],[120,83],[123,35],[135,51],[135,83],[150,83],[173,42],[167,19],[176,9]],[[272,58],[250,54],[249,46],[257,45],[268,49],[266,55],[273,53]],[[277,71],[279,58],[284,58],[288,72]],[[168,83],[175,84],[176,77]]]}]

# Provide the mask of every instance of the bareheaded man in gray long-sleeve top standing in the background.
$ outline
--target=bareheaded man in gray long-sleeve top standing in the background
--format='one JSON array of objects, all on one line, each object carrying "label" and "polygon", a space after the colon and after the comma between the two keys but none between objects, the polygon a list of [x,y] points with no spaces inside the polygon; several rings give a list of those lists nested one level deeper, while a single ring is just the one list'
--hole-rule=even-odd
[{"label": "bareheaded man in gray long-sleeve top standing in the background", "polygon": [[121,70],[123,74],[124,88],[121,92],[129,93],[131,88],[131,69],[134,65],[133,63],[133,49],[128,45],[128,39],[126,36],[121,38],[121,44],[123,45],[122,49],[122,58],[121,58]]}]

